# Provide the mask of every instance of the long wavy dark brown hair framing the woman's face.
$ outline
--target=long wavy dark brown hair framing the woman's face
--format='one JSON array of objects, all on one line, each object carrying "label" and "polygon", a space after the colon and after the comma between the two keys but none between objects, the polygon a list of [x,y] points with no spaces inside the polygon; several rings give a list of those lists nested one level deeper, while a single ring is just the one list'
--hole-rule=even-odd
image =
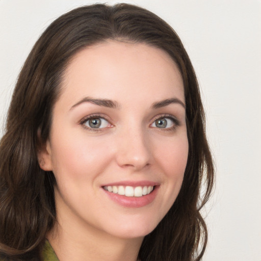
[{"label": "long wavy dark brown hair framing the woman's face", "polygon": [[52,172],[39,167],[37,149],[48,138],[68,62],[79,50],[107,39],[163,49],[184,82],[189,140],[184,181],[170,211],[145,237],[139,258],[190,261],[200,260],[204,253],[207,229],[200,210],[210,197],[214,170],[188,54],[173,29],[155,14],[128,4],[96,4],[74,9],[51,23],[19,74],[0,143],[0,252],[4,256],[41,259],[46,232],[56,222],[56,181]]}]

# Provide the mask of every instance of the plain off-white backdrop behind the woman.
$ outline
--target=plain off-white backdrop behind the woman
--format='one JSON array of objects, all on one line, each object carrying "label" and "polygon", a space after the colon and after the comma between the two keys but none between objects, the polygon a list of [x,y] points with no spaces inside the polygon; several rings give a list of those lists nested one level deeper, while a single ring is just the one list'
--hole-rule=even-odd
[{"label": "plain off-white backdrop behind the woman", "polygon": [[[17,75],[40,33],[64,12],[96,2],[0,0],[0,137]],[[217,174],[204,211],[210,238],[203,260],[261,261],[261,1],[122,2],[165,19],[198,76]]]}]

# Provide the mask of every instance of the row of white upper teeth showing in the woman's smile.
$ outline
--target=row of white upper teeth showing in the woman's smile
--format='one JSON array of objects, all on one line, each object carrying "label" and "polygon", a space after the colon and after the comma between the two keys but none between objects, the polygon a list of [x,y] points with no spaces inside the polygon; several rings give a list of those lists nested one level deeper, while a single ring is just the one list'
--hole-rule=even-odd
[{"label": "row of white upper teeth showing in the woman's smile", "polygon": [[126,197],[142,197],[150,194],[153,191],[154,186],[104,186],[102,188],[108,192],[124,195]]}]

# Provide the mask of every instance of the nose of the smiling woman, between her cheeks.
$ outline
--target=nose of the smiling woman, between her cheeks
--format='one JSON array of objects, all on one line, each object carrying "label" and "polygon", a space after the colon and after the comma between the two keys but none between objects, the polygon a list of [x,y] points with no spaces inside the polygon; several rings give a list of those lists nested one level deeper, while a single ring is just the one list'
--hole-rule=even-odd
[{"label": "nose of the smiling woman, between her cheeks", "polygon": [[141,127],[128,128],[118,138],[116,161],[120,167],[139,171],[151,164],[151,144]]}]

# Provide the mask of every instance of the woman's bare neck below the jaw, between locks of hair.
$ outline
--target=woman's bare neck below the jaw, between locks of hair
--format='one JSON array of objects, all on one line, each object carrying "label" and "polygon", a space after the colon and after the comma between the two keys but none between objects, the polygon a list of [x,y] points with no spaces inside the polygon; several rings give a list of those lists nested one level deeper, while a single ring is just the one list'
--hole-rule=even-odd
[{"label": "woman's bare neck below the jaw, between locks of hair", "polygon": [[64,214],[57,212],[57,224],[47,234],[60,261],[137,261],[143,237],[117,238]]}]

